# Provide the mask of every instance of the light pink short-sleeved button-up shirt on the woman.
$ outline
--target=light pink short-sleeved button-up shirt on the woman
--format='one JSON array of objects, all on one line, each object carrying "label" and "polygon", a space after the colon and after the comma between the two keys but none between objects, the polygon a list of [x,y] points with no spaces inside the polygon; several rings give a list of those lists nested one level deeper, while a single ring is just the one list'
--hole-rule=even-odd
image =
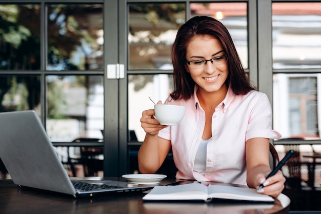
[{"label": "light pink short-sleeved button-up shirt on the woman", "polygon": [[251,91],[246,95],[235,95],[228,89],[225,99],[215,108],[212,116],[212,138],[207,144],[206,171],[203,175],[193,171],[205,127],[205,111],[199,105],[196,89],[187,101],[170,100],[168,98],[165,104],[186,106],[182,122],[158,133],[160,138],[171,141],[178,169],[176,179],[246,185],[246,142],[251,138],[281,137],[272,130],[272,110],[266,94]]}]

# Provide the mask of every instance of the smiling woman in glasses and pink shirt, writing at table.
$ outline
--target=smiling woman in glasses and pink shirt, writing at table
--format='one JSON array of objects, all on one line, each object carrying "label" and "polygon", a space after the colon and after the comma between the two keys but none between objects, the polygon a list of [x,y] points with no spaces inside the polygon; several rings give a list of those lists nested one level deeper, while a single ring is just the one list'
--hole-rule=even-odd
[{"label": "smiling woman in glasses and pink shirt, writing at table", "polygon": [[[249,83],[226,27],[208,16],[191,18],[172,46],[173,92],[165,104],[186,106],[178,126],[160,125],[143,111],[146,132],[139,171],[155,173],[172,149],[176,179],[247,184],[272,197],[284,189],[282,171],[266,179],[272,110]],[[161,102],[159,101],[158,104]]]}]

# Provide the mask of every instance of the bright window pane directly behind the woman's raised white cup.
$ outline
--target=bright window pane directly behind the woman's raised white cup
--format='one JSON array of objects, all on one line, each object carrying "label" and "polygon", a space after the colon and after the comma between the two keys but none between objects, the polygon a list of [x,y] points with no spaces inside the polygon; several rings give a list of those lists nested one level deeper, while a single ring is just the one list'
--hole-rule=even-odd
[{"label": "bright window pane directly behind the woman's raised white cup", "polygon": [[128,80],[128,129],[131,137],[135,133],[138,141],[144,141],[145,131],[139,120],[144,110],[154,108],[148,96],[155,103],[164,103],[172,92],[173,75],[128,75]]}]

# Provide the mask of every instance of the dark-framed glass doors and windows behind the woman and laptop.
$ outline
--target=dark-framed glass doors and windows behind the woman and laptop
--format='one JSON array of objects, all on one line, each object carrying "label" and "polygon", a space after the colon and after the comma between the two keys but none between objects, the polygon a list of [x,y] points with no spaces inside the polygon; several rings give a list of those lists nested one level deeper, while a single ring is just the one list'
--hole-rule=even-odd
[{"label": "dark-framed glass doors and windows behind the woman and laptop", "polygon": [[[303,156],[321,152],[319,1],[2,0],[0,112],[36,111],[70,176],[137,173],[139,119],[153,108],[148,96],[164,101],[172,91],[170,48],[196,15],[228,28],[251,82],[268,95],[279,157],[293,140],[310,163]],[[309,166],[300,165],[303,187]],[[314,172],[321,188],[321,164]],[[0,178],[10,179],[3,166]]]}]

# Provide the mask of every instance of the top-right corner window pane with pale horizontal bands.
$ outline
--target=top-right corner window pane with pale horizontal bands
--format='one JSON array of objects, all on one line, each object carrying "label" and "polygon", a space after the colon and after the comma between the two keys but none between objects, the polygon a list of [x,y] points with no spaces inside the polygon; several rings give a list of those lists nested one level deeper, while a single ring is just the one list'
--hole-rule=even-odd
[{"label": "top-right corner window pane with pale horizontal bands", "polygon": [[321,2],[273,3],[273,68],[321,68]]}]

